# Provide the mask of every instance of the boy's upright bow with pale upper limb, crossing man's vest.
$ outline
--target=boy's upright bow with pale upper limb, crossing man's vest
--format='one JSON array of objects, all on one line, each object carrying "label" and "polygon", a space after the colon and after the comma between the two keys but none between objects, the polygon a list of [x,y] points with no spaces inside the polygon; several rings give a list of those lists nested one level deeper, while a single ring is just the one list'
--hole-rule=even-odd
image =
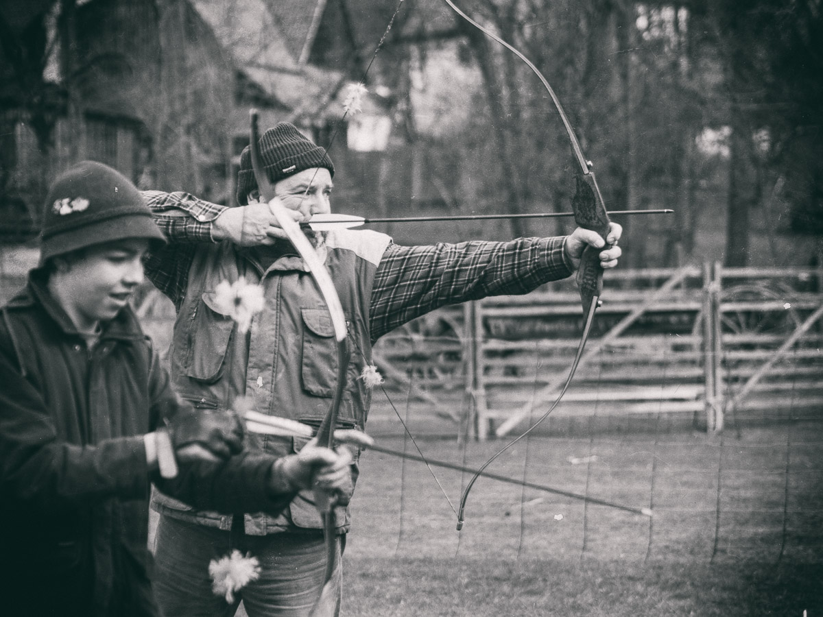
[{"label": "boy's upright bow with pale upper limb, crossing man's vest", "polygon": [[[251,113],[251,142],[249,145],[249,154],[251,155],[254,178],[257,180],[260,196],[266,201],[271,200],[275,196],[274,187],[272,183],[269,182],[263,169],[258,144],[258,116],[256,111],[252,111]],[[314,248],[309,244],[309,240],[306,239],[305,234],[300,230],[300,225],[297,225],[297,223],[291,219],[291,216],[286,212],[286,208],[279,203],[270,203],[269,207],[277,218],[277,223],[286,233],[286,236],[297,249],[297,252],[300,253],[300,257],[302,257],[306,267],[308,267],[309,273],[317,283],[320,295],[323,296],[323,301],[326,303],[328,313],[332,319],[332,328],[334,329],[334,337],[337,342],[337,383],[331,405],[328,408],[328,413],[318,429],[317,438],[318,443],[328,448],[333,448],[334,429],[337,426],[337,415],[340,411],[343,392],[346,391],[346,372],[349,365],[349,350],[346,344],[346,316],[343,313],[340,297],[337,295],[332,277],[329,275],[323,261],[314,251]],[[314,495],[320,516],[323,518],[323,536],[326,543],[326,570],[323,576],[323,589],[320,591],[317,601],[314,602],[314,606],[309,615],[333,615],[335,605],[337,604],[336,585],[333,584],[332,581],[337,562],[337,533],[334,525],[334,505],[336,498],[332,494],[323,494],[317,490],[314,491]]]}]

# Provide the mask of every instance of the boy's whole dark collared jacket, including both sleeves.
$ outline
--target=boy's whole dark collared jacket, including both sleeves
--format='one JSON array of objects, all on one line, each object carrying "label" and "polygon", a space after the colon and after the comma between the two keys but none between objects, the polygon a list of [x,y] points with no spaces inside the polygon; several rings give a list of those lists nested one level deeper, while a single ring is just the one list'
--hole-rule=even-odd
[{"label": "boy's whole dark collared jacket, including both sleeves", "polygon": [[[146,549],[152,476],[142,435],[180,404],[130,308],[105,324],[88,350],[49,295],[44,273],[30,274],[0,315],[6,607],[22,598],[21,615],[158,613]],[[188,466],[163,488],[201,507],[277,513],[294,494],[285,480],[282,494],[263,488],[272,485],[273,460],[246,455]]]}]

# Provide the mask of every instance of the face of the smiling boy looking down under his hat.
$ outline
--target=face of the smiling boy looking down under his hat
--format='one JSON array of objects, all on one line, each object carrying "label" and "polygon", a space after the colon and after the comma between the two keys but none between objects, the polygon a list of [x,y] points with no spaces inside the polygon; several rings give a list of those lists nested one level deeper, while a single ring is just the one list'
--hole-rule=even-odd
[{"label": "face of the smiling boy looking down under his hat", "polygon": [[60,274],[66,312],[81,331],[114,318],[143,280],[146,239],[125,239],[86,248]]}]

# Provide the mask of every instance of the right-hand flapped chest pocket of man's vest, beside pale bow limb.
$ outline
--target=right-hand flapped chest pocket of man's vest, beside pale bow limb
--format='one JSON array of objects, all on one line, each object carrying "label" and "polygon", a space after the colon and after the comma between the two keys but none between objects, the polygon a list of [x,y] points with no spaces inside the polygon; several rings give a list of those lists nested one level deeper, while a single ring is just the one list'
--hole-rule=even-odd
[{"label": "right-hand flapped chest pocket of man's vest, beside pale bow limb", "polygon": [[301,308],[303,316],[303,389],[316,397],[333,397],[337,381],[337,341],[325,308]]}]

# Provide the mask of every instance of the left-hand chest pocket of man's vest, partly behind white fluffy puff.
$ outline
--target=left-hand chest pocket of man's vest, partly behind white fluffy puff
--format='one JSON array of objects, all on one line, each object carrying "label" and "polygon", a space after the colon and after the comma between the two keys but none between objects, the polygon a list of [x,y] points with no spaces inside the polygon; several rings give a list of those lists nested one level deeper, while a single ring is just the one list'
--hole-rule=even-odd
[{"label": "left-hand chest pocket of man's vest, partly behind white fluffy puff", "polygon": [[221,378],[233,332],[235,322],[220,312],[214,292],[204,292],[189,324],[185,374],[203,383]]}]

